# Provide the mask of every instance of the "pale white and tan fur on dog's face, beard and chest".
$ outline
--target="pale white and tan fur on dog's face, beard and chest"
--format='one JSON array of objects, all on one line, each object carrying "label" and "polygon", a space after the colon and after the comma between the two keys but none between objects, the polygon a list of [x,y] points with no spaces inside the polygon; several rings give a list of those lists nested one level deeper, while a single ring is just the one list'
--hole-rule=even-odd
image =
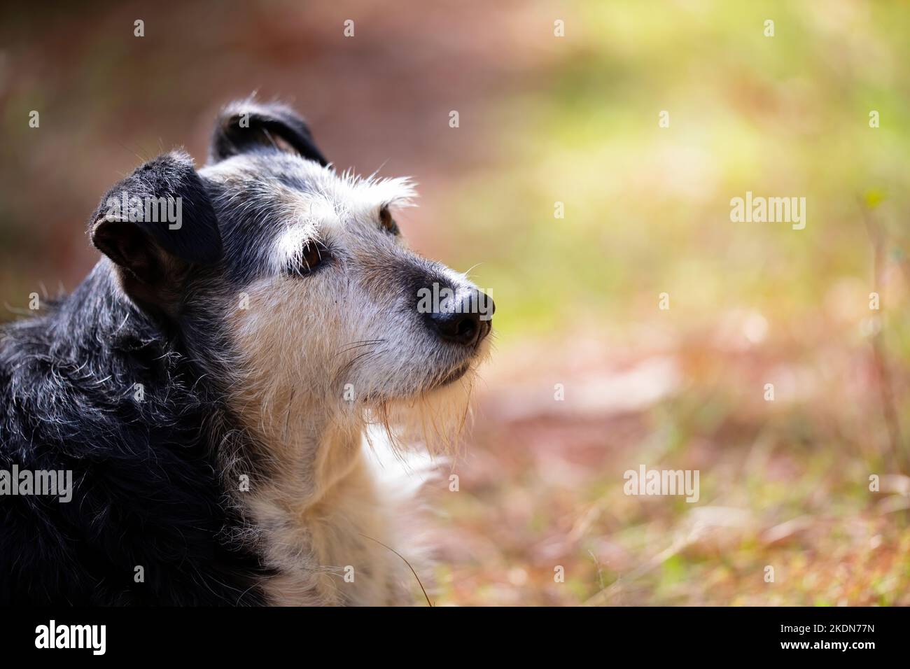
[{"label": "pale white and tan fur on dog's face, beard and chest", "polygon": [[[268,271],[225,305],[240,356],[230,401],[267,444],[268,479],[243,498],[280,573],[267,591],[276,603],[401,603],[408,597],[401,583],[413,576],[389,548],[419,562],[420,530],[408,513],[412,500],[396,503],[379,478],[409,463],[399,454],[370,467],[364,442],[380,451],[453,449],[486,344],[470,352],[441,346],[415,313],[403,272],[430,264],[379,226],[381,208],[410,204],[407,181],[339,177],[294,157],[275,162],[308,188],[266,185],[268,172],[245,159],[202,171],[228,186],[268,190],[259,206],[281,221],[263,249]],[[332,261],[289,275],[312,239],[331,249]],[[450,269],[430,268],[453,286],[470,285]],[[471,369],[460,380],[435,387],[464,362]],[[382,430],[365,439],[377,423]],[[343,582],[346,566],[354,583]]]}]

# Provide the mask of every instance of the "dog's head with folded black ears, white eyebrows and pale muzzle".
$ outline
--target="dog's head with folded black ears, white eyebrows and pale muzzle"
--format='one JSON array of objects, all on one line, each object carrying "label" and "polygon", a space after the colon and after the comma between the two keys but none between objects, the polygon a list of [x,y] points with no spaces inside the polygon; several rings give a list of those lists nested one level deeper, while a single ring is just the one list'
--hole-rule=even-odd
[{"label": "dog's head with folded black ears, white eyebrows and pale muzzle", "polygon": [[140,309],[228,394],[269,411],[359,414],[470,387],[492,301],[411,251],[395,212],[407,179],[329,167],[288,107],[252,101],[217,121],[197,170],[173,152],[102,200],[90,235]]}]

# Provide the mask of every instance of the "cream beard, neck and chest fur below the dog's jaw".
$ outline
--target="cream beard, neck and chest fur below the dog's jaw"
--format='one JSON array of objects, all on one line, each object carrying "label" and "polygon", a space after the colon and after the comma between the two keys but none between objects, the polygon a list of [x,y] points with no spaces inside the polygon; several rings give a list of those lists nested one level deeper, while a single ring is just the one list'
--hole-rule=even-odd
[{"label": "cream beard, neck and chest fur below the dog's jaw", "polygon": [[459,379],[403,398],[333,403],[274,385],[268,399],[248,398],[269,474],[238,502],[278,574],[263,583],[269,602],[415,602],[410,567],[425,586],[430,575],[420,487],[459,451],[481,359]]}]

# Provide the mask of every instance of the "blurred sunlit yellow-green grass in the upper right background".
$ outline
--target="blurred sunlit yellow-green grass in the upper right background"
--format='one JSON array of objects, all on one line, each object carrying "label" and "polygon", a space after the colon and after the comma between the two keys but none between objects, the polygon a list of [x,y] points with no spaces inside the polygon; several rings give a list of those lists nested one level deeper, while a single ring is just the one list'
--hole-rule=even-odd
[{"label": "blurred sunlit yellow-green grass in the upper right background", "polygon": [[[663,290],[689,319],[744,304],[793,318],[834,279],[867,279],[856,198],[871,189],[905,239],[906,5],[577,10],[581,35],[541,86],[497,109],[501,161],[451,194],[470,230],[465,262],[483,248],[476,274],[510,305],[503,336],[647,314]],[[868,127],[870,109],[882,127]],[[806,229],[731,223],[729,200],[746,190],[806,197]]]}]

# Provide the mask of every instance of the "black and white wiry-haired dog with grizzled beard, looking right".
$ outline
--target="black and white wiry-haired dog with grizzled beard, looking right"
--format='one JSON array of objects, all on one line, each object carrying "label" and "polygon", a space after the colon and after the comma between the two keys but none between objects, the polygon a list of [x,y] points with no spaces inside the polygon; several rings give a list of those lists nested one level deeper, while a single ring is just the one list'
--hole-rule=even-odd
[{"label": "black and white wiry-haired dog with grizzled beard, looking right", "polygon": [[[0,334],[0,603],[413,603],[389,461],[458,433],[495,309],[407,248],[413,197],[255,99],[204,167],[175,150],[111,188],[95,268]],[[72,472],[71,499],[24,471]]]}]

